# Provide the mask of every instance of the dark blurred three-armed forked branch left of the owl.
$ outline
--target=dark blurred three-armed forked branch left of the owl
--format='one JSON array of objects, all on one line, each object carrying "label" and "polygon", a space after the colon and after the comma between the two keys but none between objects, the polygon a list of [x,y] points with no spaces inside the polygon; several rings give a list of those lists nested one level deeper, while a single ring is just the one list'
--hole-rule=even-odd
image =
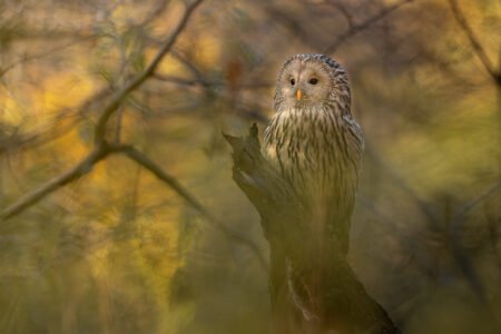
[{"label": "dark blurred three-armed forked branch left of the owl", "polygon": [[245,236],[233,232],[232,229],[226,227],[222,222],[217,220],[209,213],[209,210],[205,208],[200,204],[200,202],[197,200],[196,197],[193,196],[175,177],[170,176],[160,166],[155,164],[147,156],[145,156],[134,147],[128,145],[114,145],[109,144],[106,140],[106,128],[110,117],[114,115],[115,111],[119,109],[119,107],[130,92],[140,87],[148,78],[155,75],[158,65],[164,59],[164,57],[171,50],[178,36],[181,33],[181,31],[188,23],[190,16],[202,2],[203,0],[196,0],[187,6],[179,23],[166,39],[164,45],[160,47],[160,50],[157,52],[155,58],[148,65],[146,70],[140,75],[138,75],[135,79],[132,79],[128,85],[126,85],[122,89],[118,90],[118,92],[111,97],[110,101],[106,105],[106,107],[101,111],[101,115],[95,128],[95,148],[73,167],[62,173],[61,175],[58,175],[52,179],[46,181],[37,189],[26,194],[24,196],[20,197],[17,202],[4,208],[0,213],[0,220],[7,220],[22,213],[24,209],[36,205],[47,195],[56,191],[60,187],[63,187],[70,184],[71,181],[78,179],[79,177],[86,175],[87,173],[91,171],[92,167],[96,164],[107,158],[109,155],[120,153],[126,155],[129,159],[136,161],[140,166],[145,167],[149,171],[151,171],[158,179],[160,179],[164,184],[166,184],[173,190],[175,190],[183,199],[186,200],[188,205],[195,208],[210,224],[213,224],[217,229],[219,229],[229,240],[233,240],[235,243],[248,247],[250,252],[257,257],[263,268],[267,269],[266,259],[262,255],[257,245],[250,239],[246,238]]}]

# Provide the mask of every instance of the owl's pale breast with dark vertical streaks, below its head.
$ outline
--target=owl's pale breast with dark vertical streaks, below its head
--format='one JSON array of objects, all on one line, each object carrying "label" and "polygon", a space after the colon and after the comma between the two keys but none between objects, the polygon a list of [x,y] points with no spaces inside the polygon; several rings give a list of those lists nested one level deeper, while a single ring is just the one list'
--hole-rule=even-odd
[{"label": "owl's pale breast with dark vertical streaks, below its head", "polygon": [[345,117],[328,106],[278,110],[264,146],[264,155],[311,207],[340,219],[353,209],[363,146],[358,126]]}]

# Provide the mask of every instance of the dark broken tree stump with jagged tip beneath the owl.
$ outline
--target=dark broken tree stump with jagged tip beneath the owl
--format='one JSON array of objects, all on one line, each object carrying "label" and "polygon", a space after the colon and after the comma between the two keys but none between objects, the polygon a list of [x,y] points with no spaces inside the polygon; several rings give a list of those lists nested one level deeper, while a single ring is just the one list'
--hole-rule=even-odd
[{"label": "dark broken tree stump with jagged tip beneath the owl", "polygon": [[233,178],[261,215],[269,243],[274,334],[400,333],[365,292],[337,244],[314,237],[314,217],[294,188],[261,154],[257,126],[225,135]]}]

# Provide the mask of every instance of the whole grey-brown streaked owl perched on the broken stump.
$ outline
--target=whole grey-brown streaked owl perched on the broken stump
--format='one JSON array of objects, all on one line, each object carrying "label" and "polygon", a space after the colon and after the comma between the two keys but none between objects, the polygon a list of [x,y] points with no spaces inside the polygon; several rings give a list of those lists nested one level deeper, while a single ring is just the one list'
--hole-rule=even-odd
[{"label": "whole grey-brown streaked owl perched on the broken stump", "polygon": [[293,56],[278,75],[264,145],[264,155],[312,212],[314,234],[334,237],[344,254],[364,147],[350,109],[346,72],[336,61]]}]

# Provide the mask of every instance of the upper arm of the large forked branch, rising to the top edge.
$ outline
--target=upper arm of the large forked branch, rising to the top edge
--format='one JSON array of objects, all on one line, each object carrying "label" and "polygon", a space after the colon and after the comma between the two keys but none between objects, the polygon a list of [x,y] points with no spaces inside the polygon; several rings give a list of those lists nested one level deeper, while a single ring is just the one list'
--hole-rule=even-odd
[{"label": "upper arm of the large forked branch, rising to the top edge", "polygon": [[104,108],[102,115],[99,118],[97,125],[96,125],[96,131],[95,131],[95,141],[99,143],[105,139],[106,134],[106,125],[108,124],[109,118],[111,115],[118,109],[122,100],[135,89],[137,89],[139,86],[143,85],[143,82],[146,81],[149,77],[151,77],[155,73],[155,70],[157,69],[160,61],[164,59],[165,55],[167,55],[168,51],[170,51],[171,47],[176,42],[178,36],[181,33],[184,28],[189,21],[189,18],[191,17],[195,9],[202,3],[203,0],[195,0],[190,4],[187,6],[185,13],[183,14],[183,18],[180,19],[179,23],[177,24],[176,29],[170,33],[170,36],[165,40],[164,45],[161,46],[158,53],[155,56],[155,58],[151,60],[151,62],[148,65],[148,67],[145,69],[143,73],[137,76],[135,79],[132,79],[126,87],[124,87],[121,90],[119,90],[115,96],[111,98],[109,104]]}]

